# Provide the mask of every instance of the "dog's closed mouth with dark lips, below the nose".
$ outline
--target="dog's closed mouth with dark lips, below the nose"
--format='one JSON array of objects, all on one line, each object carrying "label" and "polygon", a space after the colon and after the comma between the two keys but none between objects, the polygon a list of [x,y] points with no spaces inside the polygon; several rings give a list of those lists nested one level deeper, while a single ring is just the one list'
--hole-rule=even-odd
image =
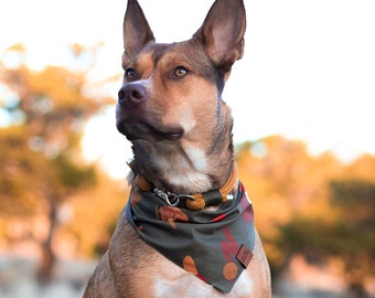
[{"label": "dog's closed mouth with dark lips, below the nose", "polygon": [[126,136],[129,141],[137,139],[176,141],[181,139],[184,134],[183,129],[179,127],[157,127],[135,118],[117,121],[116,126],[118,131]]}]

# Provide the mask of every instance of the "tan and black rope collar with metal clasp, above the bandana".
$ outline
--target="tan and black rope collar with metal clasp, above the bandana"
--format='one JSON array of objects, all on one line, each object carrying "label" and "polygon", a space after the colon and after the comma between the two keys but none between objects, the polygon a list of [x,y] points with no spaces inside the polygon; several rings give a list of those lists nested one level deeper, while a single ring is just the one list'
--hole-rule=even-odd
[{"label": "tan and black rope collar with metal clasp, above the bandana", "polygon": [[173,192],[163,191],[154,187],[142,174],[137,173],[138,171],[135,164],[135,160],[128,162],[128,166],[136,174],[135,182],[141,191],[147,191],[156,194],[160,199],[164,200],[171,206],[181,205],[182,201],[184,200],[182,204],[183,206],[188,207],[189,210],[197,211],[203,210],[204,207],[207,206],[217,205],[219,203],[226,203],[234,199],[232,191],[234,190],[237,182],[236,164],[233,164],[231,175],[223,187],[221,187],[217,190],[194,194],[176,194]]}]

